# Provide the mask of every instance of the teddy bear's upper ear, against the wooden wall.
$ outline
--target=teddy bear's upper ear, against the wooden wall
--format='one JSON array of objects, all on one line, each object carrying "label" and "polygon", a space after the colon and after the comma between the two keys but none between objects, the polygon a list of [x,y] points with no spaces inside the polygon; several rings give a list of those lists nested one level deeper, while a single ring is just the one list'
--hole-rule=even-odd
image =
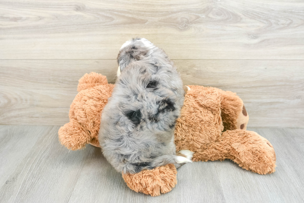
[{"label": "teddy bear's upper ear, against the wooden wall", "polygon": [[78,92],[97,85],[108,84],[108,80],[106,76],[94,72],[91,72],[90,74],[86,73],[82,78],[79,79],[78,82],[79,82],[77,86]]}]

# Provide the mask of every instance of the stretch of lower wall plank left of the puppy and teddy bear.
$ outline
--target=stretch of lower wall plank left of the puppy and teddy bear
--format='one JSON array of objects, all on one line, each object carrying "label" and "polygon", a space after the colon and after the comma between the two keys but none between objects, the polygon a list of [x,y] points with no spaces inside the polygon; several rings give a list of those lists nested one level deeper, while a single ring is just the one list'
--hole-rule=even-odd
[{"label": "stretch of lower wall plank left of the puppy and teddy bear", "polygon": [[78,80],[99,72],[113,81],[115,60],[0,61],[0,124],[64,125]]}]

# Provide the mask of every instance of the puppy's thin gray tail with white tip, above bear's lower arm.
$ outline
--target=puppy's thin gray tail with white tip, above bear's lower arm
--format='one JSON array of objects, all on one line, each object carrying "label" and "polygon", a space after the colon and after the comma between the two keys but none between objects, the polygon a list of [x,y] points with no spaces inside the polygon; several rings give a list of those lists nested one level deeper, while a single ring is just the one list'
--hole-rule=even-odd
[{"label": "puppy's thin gray tail with white tip, above bear's lower arm", "polygon": [[138,173],[142,170],[154,169],[158,166],[167,165],[167,164],[181,164],[192,162],[190,159],[182,156],[176,155],[162,155],[151,159],[149,162],[137,162],[137,163],[130,163],[127,167],[124,167],[124,173]]}]

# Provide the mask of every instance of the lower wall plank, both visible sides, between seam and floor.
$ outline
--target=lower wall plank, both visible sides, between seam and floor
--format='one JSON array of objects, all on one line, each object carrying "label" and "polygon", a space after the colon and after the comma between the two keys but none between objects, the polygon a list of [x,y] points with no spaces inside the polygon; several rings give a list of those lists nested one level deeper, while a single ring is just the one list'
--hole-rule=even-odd
[{"label": "lower wall plank, both visible sides, between seam and floor", "polygon": [[[304,60],[174,60],[184,84],[237,92],[249,127],[304,126]],[[78,79],[116,60],[0,60],[0,124],[64,125]]]}]

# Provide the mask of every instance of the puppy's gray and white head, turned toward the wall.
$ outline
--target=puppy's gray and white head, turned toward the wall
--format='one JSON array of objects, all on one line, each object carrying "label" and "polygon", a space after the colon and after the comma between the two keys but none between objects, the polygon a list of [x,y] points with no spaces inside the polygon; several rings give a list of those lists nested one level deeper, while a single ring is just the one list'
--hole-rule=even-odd
[{"label": "puppy's gray and white head, turned toward the wall", "polygon": [[133,38],[121,46],[117,57],[118,70],[117,77],[123,69],[133,61],[142,60],[149,51],[155,47],[152,42],[145,38]]}]

